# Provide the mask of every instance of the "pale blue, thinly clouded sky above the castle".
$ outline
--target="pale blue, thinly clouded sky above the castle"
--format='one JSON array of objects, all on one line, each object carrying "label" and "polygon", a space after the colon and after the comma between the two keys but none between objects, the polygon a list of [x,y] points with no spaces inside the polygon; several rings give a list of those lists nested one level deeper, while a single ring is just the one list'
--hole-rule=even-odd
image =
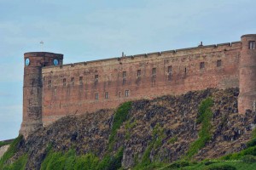
[{"label": "pale blue, thinly clouded sky above the castle", "polygon": [[240,41],[256,33],[255,0],[0,0],[0,140],[18,136],[23,54],[64,63]]}]

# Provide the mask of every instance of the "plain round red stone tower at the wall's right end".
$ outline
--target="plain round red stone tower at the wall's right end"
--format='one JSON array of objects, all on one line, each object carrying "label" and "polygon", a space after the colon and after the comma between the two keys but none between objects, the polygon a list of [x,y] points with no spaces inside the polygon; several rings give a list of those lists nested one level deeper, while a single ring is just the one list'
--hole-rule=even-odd
[{"label": "plain round red stone tower at the wall's right end", "polygon": [[241,36],[238,111],[255,111],[256,103],[256,34]]}]

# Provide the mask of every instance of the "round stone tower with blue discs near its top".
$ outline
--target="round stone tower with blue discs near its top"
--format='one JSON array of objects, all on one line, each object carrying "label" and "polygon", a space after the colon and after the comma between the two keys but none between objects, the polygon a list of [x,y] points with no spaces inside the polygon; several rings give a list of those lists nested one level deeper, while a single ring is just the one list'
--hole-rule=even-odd
[{"label": "round stone tower with blue discs near its top", "polygon": [[42,127],[42,68],[50,65],[62,65],[63,54],[32,52],[24,54],[23,79],[23,120],[20,134],[25,139],[38,127]]}]

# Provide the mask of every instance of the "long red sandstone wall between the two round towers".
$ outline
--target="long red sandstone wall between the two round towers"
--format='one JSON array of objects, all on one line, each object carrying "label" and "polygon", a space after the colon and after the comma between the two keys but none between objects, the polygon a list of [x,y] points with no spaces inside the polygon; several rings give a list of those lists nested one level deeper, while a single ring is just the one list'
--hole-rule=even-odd
[{"label": "long red sandstone wall between the two round towers", "polygon": [[[68,114],[114,108],[126,100],[183,94],[205,88],[238,87],[240,54],[241,42],[233,42],[231,45],[179,49],[176,53],[167,51],[45,67],[42,71],[43,123],[47,125]],[[218,60],[221,60],[221,66],[217,66]],[[201,62],[205,63],[203,69]],[[168,66],[172,66],[171,80],[168,79]],[[155,77],[152,77],[153,68],[156,69]],[[141,70],[139,78],[137,70]],[[126,71],[125,83],[123,71]],[[79,77],[83,77],[81,84]],[[66,86],[63,86],[64,78]],[[129,90],[128,97],[125,97],[125,90]],[[108,92],[108,99],[104,99],[105,92]],[[95,94],[99,94],[98,100]]]}]

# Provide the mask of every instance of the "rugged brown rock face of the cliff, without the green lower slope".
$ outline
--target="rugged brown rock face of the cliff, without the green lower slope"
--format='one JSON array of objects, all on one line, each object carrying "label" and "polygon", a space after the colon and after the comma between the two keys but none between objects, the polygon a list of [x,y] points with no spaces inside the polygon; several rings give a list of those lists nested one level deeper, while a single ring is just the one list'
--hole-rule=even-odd
[{"label": "rugged brown rock face of the cliff, without the green lower slope", "polygon": [[238,93],[237,88],[211,88],[181,96],[137,100],[126,105],[127,113],[120,119],[113,110],[63,117],[49,127],[38,129],[26,141],[20,140],[18,151],[9,163],[26,154],[29,160],[26,169],[40,169],[49,150],[60,153],[74,150],[76,156],[93,154],[101,160],[106,155],[116,155],[120,148],[123,168],[147,161],[188,158],[191,144],[201,138],[203,131],[204,125],[198,121],[201,101],[209,98],[213,103],[207,125],[209,138],[189,159],[224,156],[246,148],[256,123],[255,112],[237,113]]}]

